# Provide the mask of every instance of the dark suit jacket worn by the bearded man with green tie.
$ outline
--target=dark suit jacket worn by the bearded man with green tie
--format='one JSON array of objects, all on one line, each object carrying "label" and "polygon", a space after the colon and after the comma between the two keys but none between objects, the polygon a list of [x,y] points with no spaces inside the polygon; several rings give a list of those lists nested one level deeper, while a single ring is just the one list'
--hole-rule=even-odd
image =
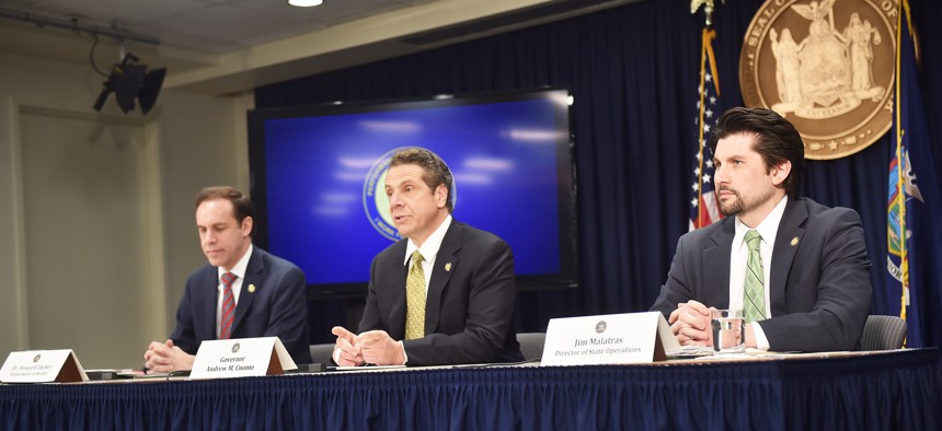
[{"label": "dark suit jacket worn by the bearded man with green tie", "polygon": [[[727,308],[735,231],[735,219],[725,218],[681,236],[667,282],[651,310],[668,316],[688,300]],[[799,238],[794,245],[793,238]],[[807,198],[789,199],[771,265],[772,317],[759,323],[771,350],[859,348],[872,288],[863,225],[855,211]]]}]

